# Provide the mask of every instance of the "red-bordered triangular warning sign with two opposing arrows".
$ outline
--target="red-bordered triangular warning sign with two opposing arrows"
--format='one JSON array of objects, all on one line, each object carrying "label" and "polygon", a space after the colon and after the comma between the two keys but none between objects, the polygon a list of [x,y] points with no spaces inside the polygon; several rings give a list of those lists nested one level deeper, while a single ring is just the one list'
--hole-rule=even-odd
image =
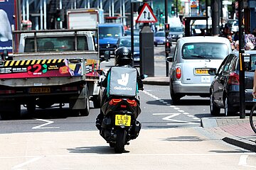
[{"label": "red-bordered triangular warning sign with two opposing arrows", "polygon": [[156,23],[157,19],[156,16],[154,16],[153,11],[151,10],[151,7],[149,4],[144,4],[142,7],[142,11],[139,13],[139,16],[136,20],[136,23]]}]

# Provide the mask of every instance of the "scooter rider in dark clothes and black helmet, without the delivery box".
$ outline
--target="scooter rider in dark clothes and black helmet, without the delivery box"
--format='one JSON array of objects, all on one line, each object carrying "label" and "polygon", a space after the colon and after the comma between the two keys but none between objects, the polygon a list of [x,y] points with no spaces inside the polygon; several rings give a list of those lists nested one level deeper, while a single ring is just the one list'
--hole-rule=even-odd
[{"label": "scooter rider in dark clothes and black helmet, without the delivery box", "polygon": [[[117,48],[117,50],[114,51],[114,61],[115,61],[115,66],[116,67],[131,67],[131,68],[135,68],[136,67],[132,67],[132,52],[131,50],[129,50],[129,48],[127,47],[119,47]],[[111,68],[107,71],[107,76],[111,71]],[[137,70],[137,69],[136,69]],[[142,83],[142,79],[139,76],[139,72],[137,70],[137,84],[138,84],[138,89],[139,90],[143,90],[143,83]],[[103,87],[107,87],[107,79],[104,79],[103,81],[100,82],[100,85]],[[102,96],[102,105],[107,102],[108,98],[107,98],[107,90],[105,89],[103,91],[103,96]],[[101,124],[102,124],[102,120],[104,118],[104,113],[102,112],[102,109],[100,108],[100,114],[97,115],[96,118],[96,127],[98,130],[101,129]]]}]

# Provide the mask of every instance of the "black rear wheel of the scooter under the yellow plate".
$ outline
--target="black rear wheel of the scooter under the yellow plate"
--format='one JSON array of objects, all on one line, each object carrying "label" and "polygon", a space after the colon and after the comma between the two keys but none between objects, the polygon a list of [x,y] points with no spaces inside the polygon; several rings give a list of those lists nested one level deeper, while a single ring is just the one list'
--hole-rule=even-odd
[{"label": "black rear wheel of the scooter under the yellow plate", "polygon": [[124,145],[125,145],[125,138],[126,138],[127,132],[123,128],[117,129],[117,142],[114,146],[114,152],[117,154],[122,154],[124,152]]}]

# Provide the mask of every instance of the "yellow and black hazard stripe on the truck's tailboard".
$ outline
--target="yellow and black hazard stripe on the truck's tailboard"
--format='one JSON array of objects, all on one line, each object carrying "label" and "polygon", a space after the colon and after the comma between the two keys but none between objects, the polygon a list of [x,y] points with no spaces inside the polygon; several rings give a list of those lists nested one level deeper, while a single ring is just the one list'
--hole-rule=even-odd
[{"label": "yellow and black hazard stripe on the truck's tailboard", "polygon": [[12,66],[25,66],[25,65],[33,65],[33,64],[55,64],[64,62],[65,59],[48,59],[48,60],[10,60],[4,63],[4,67],[12,67]]}]

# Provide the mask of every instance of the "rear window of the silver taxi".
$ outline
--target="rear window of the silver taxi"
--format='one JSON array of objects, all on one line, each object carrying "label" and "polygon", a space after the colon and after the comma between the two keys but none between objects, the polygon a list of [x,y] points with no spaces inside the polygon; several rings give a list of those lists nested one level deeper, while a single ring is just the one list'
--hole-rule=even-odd
[{"label": "rear window of the silver taxi", "polygon": [[223,60],[228,52],[228,45],[224,43],[193,42],[183,45],[182,58],[188,60]]}]

